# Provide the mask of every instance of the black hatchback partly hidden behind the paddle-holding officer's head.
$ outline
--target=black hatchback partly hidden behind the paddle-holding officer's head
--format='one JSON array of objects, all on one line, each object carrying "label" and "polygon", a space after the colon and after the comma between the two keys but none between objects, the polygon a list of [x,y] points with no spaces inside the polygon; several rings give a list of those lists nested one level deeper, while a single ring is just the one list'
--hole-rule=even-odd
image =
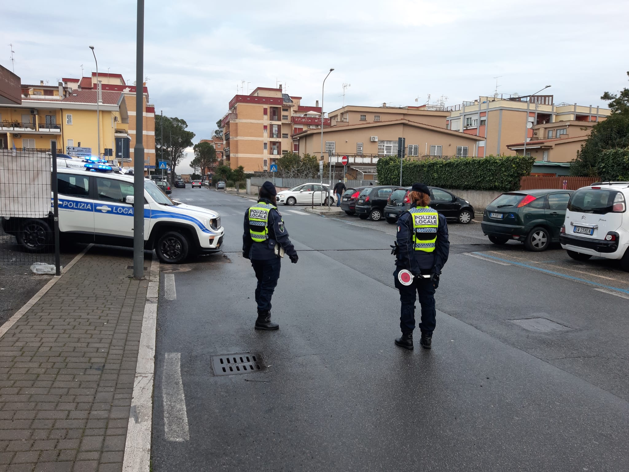
[{"label": "black hatchback partly hidden behind the paddle-holding officer's head", "polygon": [[[469,201],[438,187],[428,187],[430,189],[430,207],[437,210],[448,221],[455,221],[467,225],[474,219],[474,208]],[[397,187],[394,189],[389,201],[384,207],[384,217],[388,223],[398,221],[399,215],[411,208],[411,201],[408,198],[410,187]]]}]

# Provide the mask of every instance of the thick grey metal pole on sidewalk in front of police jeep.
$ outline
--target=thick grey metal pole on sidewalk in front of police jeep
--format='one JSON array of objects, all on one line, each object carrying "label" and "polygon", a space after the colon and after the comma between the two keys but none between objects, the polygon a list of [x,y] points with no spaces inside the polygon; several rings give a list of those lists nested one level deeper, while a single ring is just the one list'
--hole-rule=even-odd
[{"label": "thick grey metal pole on sidewalk in front of police jeep", "polygon": [[133,147],[133,277],[144,277],[144,0],[138,0],[135,59],[135,146]]}]

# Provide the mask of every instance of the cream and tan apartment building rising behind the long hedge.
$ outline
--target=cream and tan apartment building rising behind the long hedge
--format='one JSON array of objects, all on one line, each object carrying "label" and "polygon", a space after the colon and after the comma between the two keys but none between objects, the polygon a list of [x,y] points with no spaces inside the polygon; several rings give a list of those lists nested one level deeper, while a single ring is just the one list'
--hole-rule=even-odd
[{"label": "cream and tan apartment building rising behind the long hedge", "polygon": [[[552,95],[494,94],[447,107],[447,128],[484,138],[478,155],[515,154],[526,141],[586,136],[611,111],[599,106],[554,103]],[[528,144],[527,144],[528,149]],[[563,148],[568,150],[569,147]],[[574,159],[574,156],[571,158]],[[570,160],[570,159],[569,159]],[[565,162],[565,161],[558,161]]]}]

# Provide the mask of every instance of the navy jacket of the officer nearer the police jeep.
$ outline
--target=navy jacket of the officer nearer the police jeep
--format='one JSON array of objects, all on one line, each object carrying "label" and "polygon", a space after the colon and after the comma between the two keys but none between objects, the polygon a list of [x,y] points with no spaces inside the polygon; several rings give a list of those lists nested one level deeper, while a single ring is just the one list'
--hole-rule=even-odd
[{"label": "navy jacket of the officer nearer the police jeep", "polygon": [[[273,203],[267,198],[260,198],[259,203],[266,203],[267,205],[273,205]],[[280,244],[288,256],[294,256],[297,254],[295,247],[292,245],[290,239],[288,239],[288,231],[286,225],[282,221],[282,215],[279,214],[276,208],[272,208],[269,211],[269,239],[264,242],[254,242],[251,239],[250,226],[249,226],[249,210],[245,211],[245,223],[244,232],[242,235],[242,255],[252,261],[267,261],[269,259],[275,259],[275,246]],[[253,227],[255,230],[259,230],[260,227]]]}]

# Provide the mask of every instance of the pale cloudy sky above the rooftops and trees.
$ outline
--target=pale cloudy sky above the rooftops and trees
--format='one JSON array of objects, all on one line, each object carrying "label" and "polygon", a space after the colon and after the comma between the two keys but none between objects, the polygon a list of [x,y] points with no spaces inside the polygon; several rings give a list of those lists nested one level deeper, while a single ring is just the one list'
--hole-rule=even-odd
[{"label": "pale cloudy sky above the rooftops and trees", "polygon": [[[23,83],[55,83],[99,71],[135,80],[136,3],[131,0],[4,2],[0,64]],[[274,7],[272,5],[277,5]],[[269,3],[150,0],[145,63],[157,113],[209,137],[241,81],[288,87],[325,111],[530,94],[546,84],[555,103],[604,106],[603,91],[627,86],[626,0],[318,0]],[[250,82],[247,84],[247,82]],[[183,171],[183,169],[182,169]]]}]

